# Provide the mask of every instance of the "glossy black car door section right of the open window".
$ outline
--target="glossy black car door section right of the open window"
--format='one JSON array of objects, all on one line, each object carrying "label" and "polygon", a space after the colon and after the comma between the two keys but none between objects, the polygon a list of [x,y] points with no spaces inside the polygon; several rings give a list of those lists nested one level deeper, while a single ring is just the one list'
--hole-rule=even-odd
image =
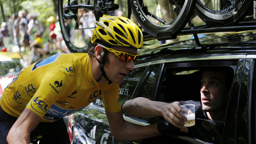
[{"label": "glossy black car door section right of the open window", "polygon": [[255,55],[240,59],[231,91],[224,143],[255,143]]}]

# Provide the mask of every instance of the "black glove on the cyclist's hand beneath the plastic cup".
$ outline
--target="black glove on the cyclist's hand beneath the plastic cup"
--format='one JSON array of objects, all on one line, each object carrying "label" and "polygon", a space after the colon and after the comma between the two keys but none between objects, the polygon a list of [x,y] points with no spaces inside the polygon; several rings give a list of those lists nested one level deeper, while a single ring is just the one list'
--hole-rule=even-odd
[{"label": "black glove on the cyclist's hand beneath the plastic cup", "polygon": [[177,134],[181,132],[180,128],[175,127],[168,121],[162,121],[161,123],[159,123],[157,125],[157,130],[161,134]]}]

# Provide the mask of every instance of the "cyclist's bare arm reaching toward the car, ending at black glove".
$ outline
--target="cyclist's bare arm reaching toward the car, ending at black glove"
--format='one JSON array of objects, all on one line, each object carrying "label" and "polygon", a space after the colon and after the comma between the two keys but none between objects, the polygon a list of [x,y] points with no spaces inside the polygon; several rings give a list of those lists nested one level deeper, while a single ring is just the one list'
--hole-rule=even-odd
[{"label": "cyclist's bare arm reaching toward the car, ending at black glove", "polygon": [[117,140],[140,140],[161,135],[155,124],[142,126],[125,121],[121,110],[118,112],[106,111],[106,115],[111,135]]}]

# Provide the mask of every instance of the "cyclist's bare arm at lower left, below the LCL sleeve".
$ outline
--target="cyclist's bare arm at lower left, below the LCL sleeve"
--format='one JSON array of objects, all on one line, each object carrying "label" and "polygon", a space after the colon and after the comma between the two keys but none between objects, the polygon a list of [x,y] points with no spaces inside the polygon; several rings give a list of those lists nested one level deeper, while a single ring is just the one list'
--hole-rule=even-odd
[{"label": "cyclist's bare arm at lower left, below the LCL sleeve", "polygon": [[8,143],[30,143],[30,132],[37,127],[40,121],[41,118],[35,112],[25,108],[7,135]]}]

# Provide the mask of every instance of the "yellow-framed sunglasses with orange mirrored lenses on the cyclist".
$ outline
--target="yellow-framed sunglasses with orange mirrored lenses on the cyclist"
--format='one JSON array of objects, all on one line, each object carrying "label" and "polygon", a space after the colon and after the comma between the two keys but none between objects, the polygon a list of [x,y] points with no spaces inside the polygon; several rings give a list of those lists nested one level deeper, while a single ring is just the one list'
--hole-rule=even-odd
[{"label": "yellow-framed sunglasses with orange mirrored lenses on the cyclist", "polygon": [[133,62],[138,58],[139,54],[137,55],[131,55],[130,53],[126,53],[126,52],[121,52],[121,51],[117,51],[114,49],[110,49],[108,47],[105,47],[99,43],[97,43],[97,45],[100,45],[101,47],[103,47],[104,49],[113,52],[116,55],[116,58],[119,59],[120,61],[127,63],[130,62],[131,60],[133,60]]}]

